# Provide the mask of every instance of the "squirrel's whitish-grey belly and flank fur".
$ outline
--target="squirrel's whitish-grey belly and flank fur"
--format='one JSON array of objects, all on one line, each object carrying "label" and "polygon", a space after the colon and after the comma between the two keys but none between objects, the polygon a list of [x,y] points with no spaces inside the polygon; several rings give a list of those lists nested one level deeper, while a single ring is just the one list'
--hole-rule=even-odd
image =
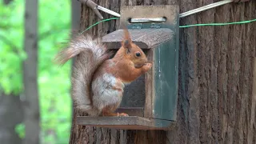
[{"label": "squirrel's whitish-grey belly and flank fur", "polygon": [[112,74],[106,73],[95,78],[92,82],[93,106],[99,112],[106,106],[119,106],[124,87],[124,83]]}]

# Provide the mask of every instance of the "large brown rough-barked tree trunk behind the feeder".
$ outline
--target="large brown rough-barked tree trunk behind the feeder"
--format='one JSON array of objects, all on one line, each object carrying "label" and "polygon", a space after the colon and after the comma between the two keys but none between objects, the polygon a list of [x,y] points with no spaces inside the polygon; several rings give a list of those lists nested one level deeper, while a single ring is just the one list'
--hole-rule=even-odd
[{"label": "large brown rough-barked tree trunk behind the feeder", "polygon": [[[94,1],[119,12],[123,5],[177,4],[180,13],[213,0]],[[102,14],[110,18],[108,14]],[[186,18],[180,25],[237,22],[256,18],[256,1],[231,3]],[[82,7],[81,30],[98,22]],[[88,30],[103,36],[118,30],[119,21]],[[252,94],[256,22],[180,29],[177,124],[173,130],[110,130],[78,126],[73,120],[70,143],[256,143],[255,95]],[[77,116],[78,112],[74,113]],[[80,114],[81,115],[81,114]]]}]

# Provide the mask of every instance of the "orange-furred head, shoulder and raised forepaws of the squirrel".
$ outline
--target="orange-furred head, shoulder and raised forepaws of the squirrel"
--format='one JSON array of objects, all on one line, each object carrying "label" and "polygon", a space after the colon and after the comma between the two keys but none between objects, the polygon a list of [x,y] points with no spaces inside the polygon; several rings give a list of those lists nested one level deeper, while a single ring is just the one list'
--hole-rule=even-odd
[{"label": "orange-furred head, shoulder and raised forepaws of the squirrel", "polygon": [[[124,44],[125,41],[128,41],[129,44],[126,47]],[[130,51],[127,54],[127,50]],[[135,53],[139,52],[141,54],[140,58],[136,58]],[[110,67],[108,70],[109,73],[114,74],[118,78],[121,78],[123,82],[132,82],[138,78],[141,74],[145,73],[147,70],[150,70],[151,64],[147,63],[146,54],[135,45],[130,38],[128,30],[124,30],[124,39],[122,41],[122,47],[115,54],[114,58],[110,61],[114,62],[114,66]]]}]

